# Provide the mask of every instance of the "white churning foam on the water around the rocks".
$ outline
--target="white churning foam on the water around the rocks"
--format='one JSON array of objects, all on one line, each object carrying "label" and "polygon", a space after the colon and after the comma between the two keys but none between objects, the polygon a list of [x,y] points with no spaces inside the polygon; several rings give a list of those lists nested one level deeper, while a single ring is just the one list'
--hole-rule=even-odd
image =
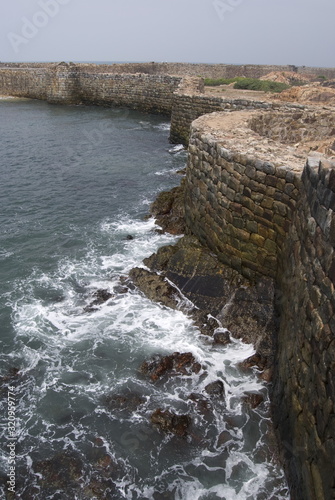
[{"label": "white churning foam on the water around the rocks", "polygon": [[[253,460],[254,450],[243,451],[244,427],[251,417],[243,414],[242,404],[238,401],[245,391],[264,392],[264,383],[252,371],[242,373],[237,368],[240,361],[254,353],[253,347],[234,339],[225,347],[213,346],[183,312],[153,303],[136,290],[116,294],[97,306],[96,311],[84,311],[85,305],[92,301],[94,291],[103,288],[113,293],[120,275],[142,265],[142,259],[160,246],[177,241],[176,237],[155,233],[153,229],[156,227],[154,219],[106,219],[101,223],[100,231],[104,237],[114,241],[114,253],[101,255],[92,246],[82,260],[63,259],[54,274],[41,273],[36,269],[26,283],[16,284],[19,299],[13,313],[13,324],[17,335],[17,353],[13,353],[13,359],[17,355],[24,360],[24,373],[31,375],[37,384],[30,392],[27,391],[26,401],[22,402],[26,419],[26,427],[23,426],[22,430],[23,442],[29,440],[32,449],[38,448],[40,443],[50,446],[52,436],[55,446],[80,451],[86,436],[93,432],[101,435],[108,453],[112,455],[118,450],[119,459],[124,460],[127,474],[117,482],[120,498],[132,499],[135,492],[139,497],[150,498],[157,484],[166,480],[171,491],[176,488],[176,498],[182,500],[202,500],[210,494],[226,500],[235,499],[237,495],[242,500],[256,497],[271,477],[277,475],[276,479],[285,483],[282,477],[278,478],[281,472],[273,464],[266,461],[257,464]],[[126,240],[128,234],[134,239]],[[63,300],[34,299],[36,286],[61,290]],[[138,377],[138,368],[145,359],[176,351],[191,352],[203,368],[200,373],[189,377],[177,376],[160,386]],[[180,450],[171,448],[173,437],[162,437],[153,432],[150,438],[140,442],[139,455],[132,462],[123,456],[125,450],[118,441],[113,442],[111,428],[118,429],[120,426],[122,436],[127,425],[130,426],[127,431],[130,433],[137,425],[148,427],[150,412],[157,407],[174,408],[181,413],[187,411],[193,404],[188,395],[191,392],[205,394],[206,385],[216,380],[224,383],[226,404],[222,402],[214,407],[210,425],[202,417],[196,419],[196,431],[208,439],[205,449],[194,446],[187,452],[185,442],[185,455],[181,458],[177,456]],[[141,388],[147,399],[144,413],[138,410],[122,419],[111,414],[101,403],[101,398],[109,392],[122,392],[128,385]],[[62,415],[62,410],[66,416],[67,407],[76,408],[78,405],[81,408],[84,404],[85,409],[88,408],[85,418],[76,421],[73,410],[73,421],[64,425],[57,421],[50,422],[49,416],[39,421],[38,425],[33,423],[37,407],[46,411],[45,401],[48,399],[43,398],[50,397],[53,394],[51,391],[64,400],[64,409],[56,408],[56,413],[59,411]],[[216,443],[220,432],[227,429],[227,414],[231,418],[242,416],[243,425],[236,427],[233,422],[229,428],[235,449],[223,466],[219,464],[222,449],[218,449]],[[254,413],[253,418],[261,422],[268,417],[260,410]],[[262,433],[259,429],[257,433],[256,449],[263,446]],[[136,472],[136,460],[142,458],[143,463],[151,463],[152,471],[148,472],[148,478],[139,477]],[[175,465],[177,460],[180,461],[178,466]],[[240,462],[247,465],[247,476],[236,483],[233,471]],[[214,482],[222,468],[223,478],[224,474],[227,477],[226,484],[224,480],[220,485],[202,484],[199,479],[202,473],[197,477],[197,467],[207,471],[208,481],[214,475]],[[173,479],[170,481],[170,478]],[[269,488],[271,495],[272,486]]]}]

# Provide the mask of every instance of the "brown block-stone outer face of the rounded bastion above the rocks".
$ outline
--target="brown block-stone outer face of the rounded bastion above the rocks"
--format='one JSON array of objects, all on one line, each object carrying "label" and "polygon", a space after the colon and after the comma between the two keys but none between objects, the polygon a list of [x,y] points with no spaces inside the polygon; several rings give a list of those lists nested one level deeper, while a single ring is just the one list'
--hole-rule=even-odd
[{"label": "brown block-stone outer face of the rounded bastion above the rocks", "polygon": [[289,165],[228,150],[194,122],[186,181],[186,221],[227,265],[253,279],[276,276],[299,198],[300,176]]}]

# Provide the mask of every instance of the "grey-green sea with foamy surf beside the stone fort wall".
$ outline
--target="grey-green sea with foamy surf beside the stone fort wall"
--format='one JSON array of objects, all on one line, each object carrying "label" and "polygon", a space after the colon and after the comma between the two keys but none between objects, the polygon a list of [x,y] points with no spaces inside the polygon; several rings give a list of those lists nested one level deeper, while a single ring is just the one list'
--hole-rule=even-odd
[{"label": "grey-green sea with foamy surf beside the stone fort wall", "polygon": [[[144,218],[186,162],[168,142],[167,120],[2,99],[0,129],[1,498],[12,498],[14,442],[20,499],[288,499],[266,387],[238,367],[252,346],[213,347],[181,311],[122,285],[144,257],[177,241]],[[111,298],[85,312],[99,289]],[[175,351],[192,352],[199,374],[152,383],[140,373],[143,361]],[[197,411],[189,395],[216,380],[225,400]],[[245,391],[264,403],[246,407]],[[118,408],[115,395],[140,404]],[[189,435],[154,428],[157,408],[189,414]]]}]

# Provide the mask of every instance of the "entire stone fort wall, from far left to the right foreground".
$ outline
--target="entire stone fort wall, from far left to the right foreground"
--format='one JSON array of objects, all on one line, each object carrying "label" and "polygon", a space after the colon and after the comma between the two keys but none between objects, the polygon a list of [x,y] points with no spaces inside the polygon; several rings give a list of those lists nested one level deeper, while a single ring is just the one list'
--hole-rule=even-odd
[{"label": "entire stone fort wall, from far left to the right foreground", "polygon": [[[171,139],[189,141],[188,227],[222,262],[278,284],[272,399],[292,498],[335,498],[335,165],[318,155],[306,162],[306,150],[294,146],[333,141],[334,114],[206,96],[193,65],[169,67],[172,76],[150,64],[139,74],[129,71],[139,65],[122,74],[87,65],[9,66],[0,65],[1,94],[171,115]],[[181,68],[191,76],[182,80]]]}]

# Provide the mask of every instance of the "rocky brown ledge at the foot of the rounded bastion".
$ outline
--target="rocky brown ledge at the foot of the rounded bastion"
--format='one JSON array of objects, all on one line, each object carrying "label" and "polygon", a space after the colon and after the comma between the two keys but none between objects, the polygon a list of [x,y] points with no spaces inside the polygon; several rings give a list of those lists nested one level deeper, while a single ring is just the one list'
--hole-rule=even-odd
[{"label": "rocky brown ledge at the foot of the rounded bastion", "polygon": [[248,280],[186,230],[183,186],[182,180],[180,187],[160,193],[150,207],[157,230],[181,239],[144,259],[145,267],[132,269],[126,282],[150,300],[185,312],[214,342],[232,335],[252,343],[256,355],[249,364],[257,365],[270,381],[278,322],[274,280]]}]

